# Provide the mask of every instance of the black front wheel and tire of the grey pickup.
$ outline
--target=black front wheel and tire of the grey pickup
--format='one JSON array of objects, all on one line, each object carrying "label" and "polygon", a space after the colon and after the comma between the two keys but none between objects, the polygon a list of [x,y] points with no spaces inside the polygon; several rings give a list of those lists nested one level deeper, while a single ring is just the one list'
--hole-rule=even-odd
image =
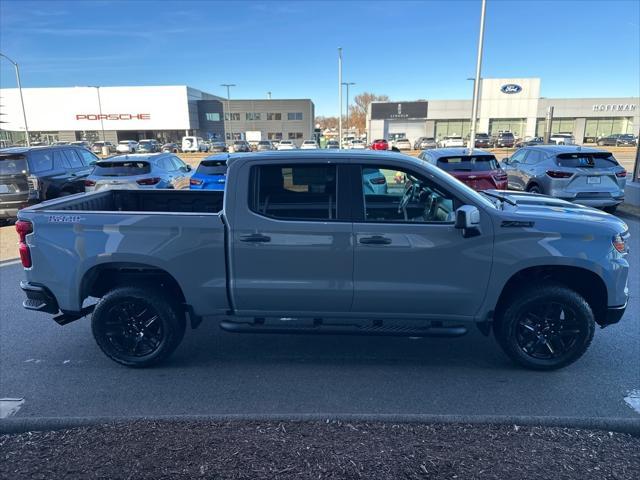
[{"label": "black front wheel and tire of the grey pickup", "polygon": [[591,344],[595,320],[577,292],[558,284],[521,290],[494,324],[498,344],[515,363],[556,370],[578,360]]}]

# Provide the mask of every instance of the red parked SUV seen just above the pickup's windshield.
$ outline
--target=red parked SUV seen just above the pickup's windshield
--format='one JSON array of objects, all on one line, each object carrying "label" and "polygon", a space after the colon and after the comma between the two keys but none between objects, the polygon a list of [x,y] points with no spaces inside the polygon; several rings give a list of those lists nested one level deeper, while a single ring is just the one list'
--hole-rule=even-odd
[{"label": "red parked SUV seen just above the pickup's windshield", "polygon": [[490,152],[436,148],[423,151],[418,158],[444,170],[474,190],[507,189],[507,174]]}]

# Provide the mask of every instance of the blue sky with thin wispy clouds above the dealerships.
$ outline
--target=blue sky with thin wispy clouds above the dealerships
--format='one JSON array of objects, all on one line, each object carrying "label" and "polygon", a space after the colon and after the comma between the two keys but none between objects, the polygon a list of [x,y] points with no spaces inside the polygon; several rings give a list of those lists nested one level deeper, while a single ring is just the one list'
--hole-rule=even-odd
[{"label": "blue sky with thin wispy clouds above the dealerships", "polygon": [[[311,98],[343,81],[391,100],[471,98],[480,0],[0,0],[0,52],[23,87],[189,85]],[[488,0],[482,77],[540,77],[545,97],[640,96],[640,1]],[[15,86],[0,59],[0,86]]]}]

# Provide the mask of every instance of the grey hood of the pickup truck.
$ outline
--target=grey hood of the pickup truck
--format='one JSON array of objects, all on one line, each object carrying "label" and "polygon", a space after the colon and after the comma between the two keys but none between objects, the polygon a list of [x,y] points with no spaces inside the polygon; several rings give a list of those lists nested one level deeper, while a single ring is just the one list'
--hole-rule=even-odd
[{"label": "grey hood of the pickup truck", "polygon": [[586,207],[547,195],[505,190],[489,191],[505,196],[516,203],[515,206],[508,203],[504,204],[504,209],[502,210],[503,222],[511,220],[514,222],[555,221],[560,224],[577,222],[588,223],[593,228],[597,228],[597,225],[608,227],[615,233],[622,233],[628,230],[625,222],[596,208]]}]

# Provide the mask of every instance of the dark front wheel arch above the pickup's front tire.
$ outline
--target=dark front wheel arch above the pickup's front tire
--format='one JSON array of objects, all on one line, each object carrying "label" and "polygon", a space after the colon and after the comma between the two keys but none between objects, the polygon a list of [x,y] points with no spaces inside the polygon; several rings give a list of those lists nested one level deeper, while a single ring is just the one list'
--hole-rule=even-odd
[{"label": "dark front wheel arch above the pickup's front tire", "polygon": [[527,267],[514,273],[504,284],[494,311],[494,321],[499,322],[509,300],[532,282],[555,282],[580,294],[591,307],[596,323],[606,324],[607,287],[594,271],[569,265],[544,265]]}]

